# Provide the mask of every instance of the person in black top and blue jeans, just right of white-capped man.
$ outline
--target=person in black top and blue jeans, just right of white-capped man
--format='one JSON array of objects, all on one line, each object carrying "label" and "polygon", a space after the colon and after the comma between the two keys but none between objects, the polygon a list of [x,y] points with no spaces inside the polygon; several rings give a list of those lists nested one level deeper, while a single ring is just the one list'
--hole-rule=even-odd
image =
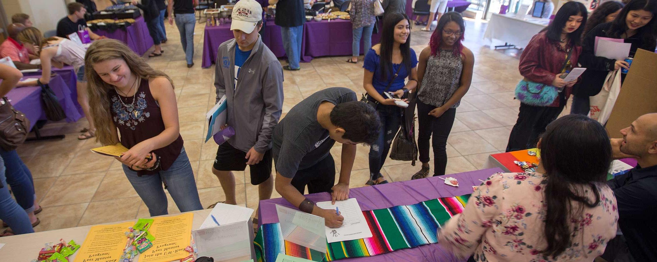
[{"label": "person in black top and blue jeans, just right of white-capped man", "polygon": [[301,43],[304,36],[306,9],[304,0],[269,0],[269,5],[276,5],[274,23],[281,26],[283,47],[288,57],[285,70],[300,70]]}]

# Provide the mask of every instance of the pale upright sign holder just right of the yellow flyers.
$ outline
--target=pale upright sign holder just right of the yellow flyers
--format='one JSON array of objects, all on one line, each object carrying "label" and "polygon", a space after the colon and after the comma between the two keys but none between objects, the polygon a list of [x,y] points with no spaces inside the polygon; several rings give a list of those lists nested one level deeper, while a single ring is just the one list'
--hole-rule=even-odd
[{"label": "pale upright sign holder just right of the yellow flyers", "polygon": [[[192,230],[199,257],[238,262],[255,256],[249,221]],[[251,229],[252,230],[252,229]]]}]

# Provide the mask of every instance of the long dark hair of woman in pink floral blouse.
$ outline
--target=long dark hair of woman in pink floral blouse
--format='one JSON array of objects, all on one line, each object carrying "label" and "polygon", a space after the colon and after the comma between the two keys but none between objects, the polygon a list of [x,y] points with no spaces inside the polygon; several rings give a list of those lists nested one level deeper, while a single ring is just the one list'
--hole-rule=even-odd
[{"label": "long dark hair of woman in pink floral blouse", "polygon": [[[547,206],[547,248],[541,252],[556,259],[572,244],[570,219],[581,217],[583,206],[599,204],[600,193],[596,184],[606,180],[612,148],[607,132],[599,122],[583,115],[567,115],[547,126],[539,149],[547,182],[543,199]],[[589,201],[574,185],[589,187],[595,194],[595,201]],[[572,205],[572,201],[581,205]]]}]

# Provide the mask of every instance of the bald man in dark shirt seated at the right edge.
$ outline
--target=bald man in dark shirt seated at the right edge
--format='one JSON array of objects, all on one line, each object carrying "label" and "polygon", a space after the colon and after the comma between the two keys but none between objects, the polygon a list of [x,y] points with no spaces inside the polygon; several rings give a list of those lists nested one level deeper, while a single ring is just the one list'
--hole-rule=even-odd
[{"label": "bald man in dark shirt seated at the right edge", "polygon": [[[610,241],[602,258],[657,261],[657,113],[642,115],[620,133],[623,138],[610,140],[614,158],[631,157],[638,164],[607,182],[616,196],[623,234]],[[629,249],[629,254],[622,249]]]}]

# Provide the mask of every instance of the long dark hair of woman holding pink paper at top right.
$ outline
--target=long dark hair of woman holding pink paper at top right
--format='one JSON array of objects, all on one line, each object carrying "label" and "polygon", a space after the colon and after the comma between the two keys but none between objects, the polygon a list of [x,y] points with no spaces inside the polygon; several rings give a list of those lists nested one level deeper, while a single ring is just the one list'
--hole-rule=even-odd
[{"label": "long dark hair of woman holding pink paper at top right", "polygon": [[637,30],[637,34],[641,36],[641,41],[645,47],[654,47],[657,38],[657,1],[655,0],[632,0],[620,11],[616,19],[612,21],[612,26],[607,31],[607,36],[610,38],[620,38],[622,34],[627,31],[627,13],[634,10],[645,10],[652,13],[652,19],[645,26],[641,26]]}]

